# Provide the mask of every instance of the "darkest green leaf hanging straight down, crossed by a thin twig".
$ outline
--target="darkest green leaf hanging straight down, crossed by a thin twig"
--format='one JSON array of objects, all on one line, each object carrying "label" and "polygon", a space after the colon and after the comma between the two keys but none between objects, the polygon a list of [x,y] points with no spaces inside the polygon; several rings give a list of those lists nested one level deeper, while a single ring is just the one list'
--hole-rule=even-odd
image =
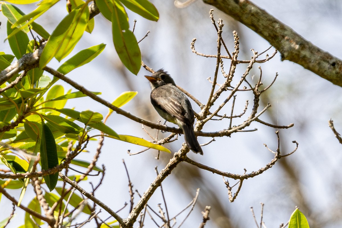
[{"label": "darkest green leaf hanging straight down, crossed by a thin twig", "polygon": [[[42,122],[42,136],[40,141],[40,162],[43,170],[48,170],[58,165],[55,138],[49,126],[44,122]],[[44,180],[50,191],[52,191],[57,184],[58,172],[44,176]]]}]

